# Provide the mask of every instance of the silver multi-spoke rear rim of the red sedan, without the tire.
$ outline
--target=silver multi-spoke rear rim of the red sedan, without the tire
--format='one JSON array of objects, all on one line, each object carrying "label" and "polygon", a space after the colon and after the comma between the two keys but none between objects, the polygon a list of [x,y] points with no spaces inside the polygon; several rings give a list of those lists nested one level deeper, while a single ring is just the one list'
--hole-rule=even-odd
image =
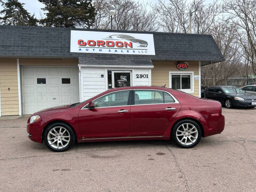
[{"label": "silver multi-spoke rear rim of the red sedan, without the tire", "polygon": [[193,144],[198,138],[196,126],[191,123],[181,124],[176,131],[176,138],[182,145]]}]

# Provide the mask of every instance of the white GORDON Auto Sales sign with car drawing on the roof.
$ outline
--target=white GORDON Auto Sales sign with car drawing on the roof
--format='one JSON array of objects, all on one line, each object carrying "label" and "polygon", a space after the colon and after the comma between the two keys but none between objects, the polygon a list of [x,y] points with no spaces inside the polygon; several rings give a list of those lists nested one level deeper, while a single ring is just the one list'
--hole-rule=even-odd
[{"label": "white GORDON Auto Sales sign with car drawing on the roof", "polygon": [[71,30],[70,52],[155,55],[153,34]]}]

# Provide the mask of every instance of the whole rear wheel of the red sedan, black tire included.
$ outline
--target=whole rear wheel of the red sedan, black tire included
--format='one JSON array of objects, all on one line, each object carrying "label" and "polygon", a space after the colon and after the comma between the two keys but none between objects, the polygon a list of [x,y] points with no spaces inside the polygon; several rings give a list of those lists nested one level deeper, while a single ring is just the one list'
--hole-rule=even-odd
[{"label": "whole rear wheel of the red sedan, black tire included", "polygon": [[201,127],[191,119],[185,119],[174,125],[172,139],[181,148],[195,147],[202,137]]}]

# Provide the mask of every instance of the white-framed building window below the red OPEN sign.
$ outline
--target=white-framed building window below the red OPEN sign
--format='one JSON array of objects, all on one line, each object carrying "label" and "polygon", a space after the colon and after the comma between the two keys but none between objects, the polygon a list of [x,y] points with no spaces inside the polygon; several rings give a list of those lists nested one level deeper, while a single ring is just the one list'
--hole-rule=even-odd
[{"label": "white-framed building window below the red OPEN sign", "polygon": [[175,90],[184,91],[187,93],[194,92],[194,73],[185,72],[185,73],[175,73],[170,71],[170,88]]}]

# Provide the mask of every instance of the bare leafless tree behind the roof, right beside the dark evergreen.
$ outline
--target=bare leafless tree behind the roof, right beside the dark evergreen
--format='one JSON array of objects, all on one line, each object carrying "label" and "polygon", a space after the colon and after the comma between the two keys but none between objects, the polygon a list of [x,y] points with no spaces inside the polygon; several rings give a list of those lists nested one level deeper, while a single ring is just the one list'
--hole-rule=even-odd
[{"label": "bare leafless tree behind the roof, right beside the dark evergreen", "polygon": [[148,9],[147,4],[141,4],[133,0],[97,0],[94,7],[97,12],[94,28],[109,29],[111,20],[110,7],[115,7],[113,17],[113,29],[155,31],[156,15]]}]

